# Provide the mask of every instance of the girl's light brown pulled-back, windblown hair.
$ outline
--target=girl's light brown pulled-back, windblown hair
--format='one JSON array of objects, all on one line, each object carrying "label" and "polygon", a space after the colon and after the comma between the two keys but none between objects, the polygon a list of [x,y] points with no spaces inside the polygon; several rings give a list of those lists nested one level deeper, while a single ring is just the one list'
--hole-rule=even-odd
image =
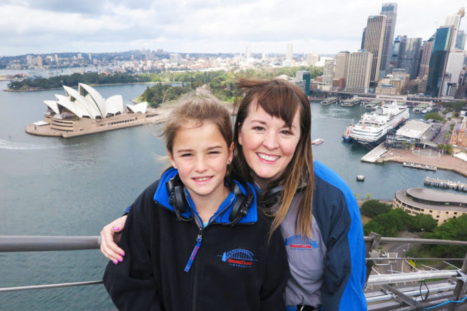
[{"label": "girl's light brown pulled-back, windblown hair", "polygon": [[231,113],[214,95],[208,91],[197,90],[185,95],[168,117],[163,137],[166,138],[166,149],[170,153],[173,152],[176,133],[186,128],[187,122],[190,121],[194,122],[196,127],[203,126],[205,121],[213,122],[224,137],[227,148],[230,147],[232,143]]}]

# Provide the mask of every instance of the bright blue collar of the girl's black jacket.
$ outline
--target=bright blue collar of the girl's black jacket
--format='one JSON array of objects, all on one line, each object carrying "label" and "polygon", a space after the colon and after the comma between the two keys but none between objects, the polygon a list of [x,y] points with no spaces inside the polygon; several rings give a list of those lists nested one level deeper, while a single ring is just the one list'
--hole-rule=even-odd
[{"label": "bright blue collar of the girl's black jacket", "polygon": [[[174,207],[172,207],[172,205],[170,205],[169,203],[169,193],[167,191],[166,183],[170,180],[170,178],[174,177],[178,173],[179,173],[178,170],[175,170],[174,168],[170,168],[166,170],[166,172],[163,172],[161,176],[161,181],[159,182],[159,185],[157,186],[157,190],[154,194],[154,200],[157,203],[159,203],[166,209],[169,209],[170,211],[173,211],[173,212],[175,212],[175,210],[174,210]],[[234,182],[238,185],[242,194],[247,195],[247,191],[244,188],[244,185],[242,185],[239,181],[234,181]],[[249,183],[246,183],[246,186],[249,187],[249,191],[253,194],[254,199],[253,199],[253,202],[251,203],[251,206],[248,209],[247,216],[242,217],[238,221],[239,224],[242,224],[242,223],[248,224],[248,223],[258,221],[258,209],[256,206],[255,188]],[[185,189],[185,197],[187,198],[188,208],[185,210],[184,213],[181,213],[181,216],[183,216],[183,218],[199,217],[198,212],[196,211],[196,207],[194,206],[194,202],[192,198],[190,197],[190,194],[186,191],[186,189]],[[209,222],[228,224],[229,215],[236,200],[237,198],[234,195],[234,193],[229,192],[229,194],[227,195],[227,198],[225,198],[223,203],[220,203],[218,210],[216,211],[216,213],[214,213],[214,215],[209,220]]]}]

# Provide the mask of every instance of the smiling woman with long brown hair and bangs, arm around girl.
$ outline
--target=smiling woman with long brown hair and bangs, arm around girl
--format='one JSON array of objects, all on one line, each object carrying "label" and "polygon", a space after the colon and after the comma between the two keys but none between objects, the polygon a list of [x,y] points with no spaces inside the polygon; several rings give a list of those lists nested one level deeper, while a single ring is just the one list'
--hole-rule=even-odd
[{"label": "smiling woman with long brown hair and bangs, arm around girl", "polygon": [[[366,310],[365,243],[355,197],[342,179],[312,159],[310,103],[285,80],[240,79],[234,169],[264,194],[281,228],[291,268],[288,310]],[[101,250],[122,260],[113,235],[124,217],[102,229]],[[120,254],[120,255],[119,255]]]}]

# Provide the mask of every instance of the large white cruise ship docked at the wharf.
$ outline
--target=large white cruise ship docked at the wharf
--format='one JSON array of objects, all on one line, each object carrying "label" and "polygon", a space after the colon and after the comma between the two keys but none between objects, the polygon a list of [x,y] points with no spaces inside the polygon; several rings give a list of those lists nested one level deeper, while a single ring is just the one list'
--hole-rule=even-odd
[{"label": "large white cruise ship docked at the wharf", "polygon": [[378,106],[376,111],[363,113],[360,121],[352,126],[350,137],[352,141],[363,144],[377,145],[386,137],[387,131],[398,128],[409,119],[409,108],[392,102]]}]

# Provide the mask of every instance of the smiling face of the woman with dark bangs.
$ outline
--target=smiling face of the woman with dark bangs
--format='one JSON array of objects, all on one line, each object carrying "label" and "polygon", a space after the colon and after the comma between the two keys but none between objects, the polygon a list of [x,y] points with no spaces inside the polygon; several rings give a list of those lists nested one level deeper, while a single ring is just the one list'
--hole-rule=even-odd
[{"label": "smiling face of the woman with dark bangs", "polygon": [[249,104],[248,115],[238,133],[238,143],[253,170],[253,180],[261,189],[279,178],[291,163],[300,139],[299,124],[299,111],[288,128],[283,119],[269,115],[255,102]]}]

